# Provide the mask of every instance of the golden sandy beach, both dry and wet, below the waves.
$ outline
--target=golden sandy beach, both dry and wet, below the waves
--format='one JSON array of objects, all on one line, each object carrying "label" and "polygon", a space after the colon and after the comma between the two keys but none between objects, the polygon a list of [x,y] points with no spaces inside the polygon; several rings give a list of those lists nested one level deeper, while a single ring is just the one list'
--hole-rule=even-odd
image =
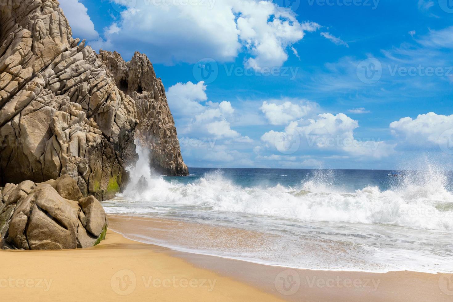
[{"label": "golden sandy beach, both dry and wet, below the waves", "polygon": [[[1,251],[2,298],[12,301],[451,301],[447,274],[311,271],[254,264],[125,238],[181,234],[195,224],[110,216],[93,248]],[[207,229],[206,229],[207,230]],[[214,230],[215,231],[215,230]],[[226,233],[232,230],[225,230]],[[234,235],[234,234],[230,234]],[[241,235],[236,236],[241,242]],[[251,234],[246,234],[251,237]]]}]

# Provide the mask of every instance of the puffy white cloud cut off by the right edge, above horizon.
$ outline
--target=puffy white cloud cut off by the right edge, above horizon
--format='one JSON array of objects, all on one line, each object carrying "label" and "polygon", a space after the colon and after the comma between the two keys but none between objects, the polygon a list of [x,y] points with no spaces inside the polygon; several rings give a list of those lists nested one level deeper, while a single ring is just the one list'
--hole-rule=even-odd
[{"label": "puffy white cloud cut off by the right edge, above horizon", "polygon": [[399,145],[431,146],[439,144],[439,136],[453,129],[453,115],[438,115],[434,112],[418,115],[414,120],[402,118],[390,124],[391,133],[399,139]]}]

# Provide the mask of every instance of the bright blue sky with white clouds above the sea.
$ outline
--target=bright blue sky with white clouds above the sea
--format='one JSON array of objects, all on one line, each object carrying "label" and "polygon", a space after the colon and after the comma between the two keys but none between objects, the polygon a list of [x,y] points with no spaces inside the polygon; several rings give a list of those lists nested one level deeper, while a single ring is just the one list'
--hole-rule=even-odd
[{"label": "bright blue sky with white clouds above the sea", "polygon": [[283,1],[60,4],[148,55],[189,167],[453,168],[451,0]]}]

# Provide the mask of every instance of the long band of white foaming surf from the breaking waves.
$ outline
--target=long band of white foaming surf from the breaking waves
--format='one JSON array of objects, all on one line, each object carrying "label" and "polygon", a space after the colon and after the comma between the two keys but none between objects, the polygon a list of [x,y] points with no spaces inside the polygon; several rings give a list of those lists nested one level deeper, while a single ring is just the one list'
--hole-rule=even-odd
[{"label": "long band of white foaming surf from the breaking waves", "polygon": [[[147,187],[143,191],[133,191],[132,186],[128,186],[120,198],[302,221],[453,230],[453,194],[444,187],[442,175],[424,179],[420,175],[408,176],[398,187],[387,191],[365,187],[344,193],[320,176],[298,187],[243,188],[224,177],[221,171],[207,173],[189,184],[167,182],[163,177],[151,177],[148,171],[146,173]],[[138,179],[133,183],[136,182]]]}]

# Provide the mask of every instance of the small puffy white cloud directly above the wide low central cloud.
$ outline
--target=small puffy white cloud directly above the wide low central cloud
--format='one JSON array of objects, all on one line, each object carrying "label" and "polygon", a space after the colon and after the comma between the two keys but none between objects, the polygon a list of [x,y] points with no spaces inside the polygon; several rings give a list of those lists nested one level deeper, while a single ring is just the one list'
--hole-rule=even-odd
[{"label": "small puffy white cloud directly above the wide low central cloud", "polygon": [[306,116],[318,107],[315,102],[294,99],[291,99],[291,101],[284,101],[281,105],[264,101],[260,110],[265,114],[271,125],[285,125],[290,121]]}]

